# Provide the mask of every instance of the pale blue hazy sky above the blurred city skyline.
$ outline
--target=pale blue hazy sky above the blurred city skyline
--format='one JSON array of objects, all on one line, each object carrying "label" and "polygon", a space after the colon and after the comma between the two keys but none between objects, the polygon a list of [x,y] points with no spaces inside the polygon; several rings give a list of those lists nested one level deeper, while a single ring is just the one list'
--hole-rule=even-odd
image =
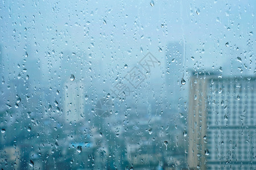
[{"label": "pale blue hazy sky above the blurred city skyline", "polygon": [[[28,50],[47,77],[60,69],[64,51],[84,54],[85,65],[92,63],[86,69],[96,75],[129,68],[151,52],[165,73],[171,41],[186,44],[185,70],[194,65],[229,70],[233,63],[253,73],[255,5],[247,0],[154,1],[154,6],[150,1],[1,1],[0,43],[10,70]],[[162,74],[152,72],[152,79]]]}]

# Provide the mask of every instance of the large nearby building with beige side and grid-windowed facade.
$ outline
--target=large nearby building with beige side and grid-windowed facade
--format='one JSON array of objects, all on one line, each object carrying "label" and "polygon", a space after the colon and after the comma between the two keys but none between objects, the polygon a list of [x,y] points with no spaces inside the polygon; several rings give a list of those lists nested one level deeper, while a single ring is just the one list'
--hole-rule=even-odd
[{"label": "large nearby building with beige side and grid-windowed facade", "polygon": [[192,74],[189,168],[256,168],[255,88],[255,77]]}]

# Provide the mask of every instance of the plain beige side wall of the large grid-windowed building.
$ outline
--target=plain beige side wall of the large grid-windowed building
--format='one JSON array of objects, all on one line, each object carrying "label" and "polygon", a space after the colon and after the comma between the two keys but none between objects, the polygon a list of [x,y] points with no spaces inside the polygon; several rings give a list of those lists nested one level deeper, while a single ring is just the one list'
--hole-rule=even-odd
[{"label": "plain beige side wall of the large grid-windowed building", "polygon": [[205,136],[207,133],[207,84],[209,76],[192,73],[189,84],[188,166],[206,169]]}]

